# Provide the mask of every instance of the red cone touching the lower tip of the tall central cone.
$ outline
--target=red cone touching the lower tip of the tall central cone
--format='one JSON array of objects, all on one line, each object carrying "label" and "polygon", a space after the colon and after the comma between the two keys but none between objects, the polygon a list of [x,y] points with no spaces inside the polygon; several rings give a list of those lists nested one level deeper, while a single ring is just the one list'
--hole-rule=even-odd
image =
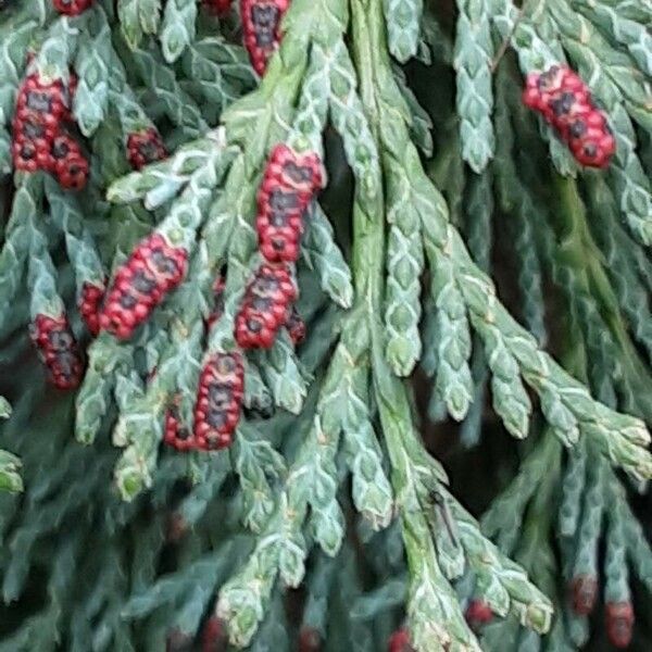
[{"label": "red cone touching the lower tip of the tall central cone", "polygon": [[262,264],[249,284],[236,316],[236,340],[242,349],[268,349],[287,323],[297,287],[286,265]]}]

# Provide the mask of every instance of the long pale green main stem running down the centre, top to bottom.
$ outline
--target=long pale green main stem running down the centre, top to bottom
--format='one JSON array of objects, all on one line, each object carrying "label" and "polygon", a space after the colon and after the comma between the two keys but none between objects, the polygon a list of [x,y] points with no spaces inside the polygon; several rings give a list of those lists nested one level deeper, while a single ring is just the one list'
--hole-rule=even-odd
[{"label": "long pale green main stem running down the centre, top to bottom", "polygon": [[[379,0],[352,0],[352,22],[354,60],[362,90],[362,101],[372,123],[372,133],[376,145],[379,143],[378,129],[378,74],[383,66],[378,62],[378,52],[386,52],[384,23]],[[383,116],[391,120],[391,116]],[[378,186],[380,193],[381,186]],[[450,616],[450,623],[456,623],[456,635],[467,639],[461,614],[455,611],[455,599],[450,585],[443,578],[437,563],[428,521],[422,502],[426,500],[428,485],[434,487],[443,478],[437,462],[429,457],[416,436],[410,398],[405,384],[397,378],[389,368],[384,354],[384,335],[379,323],[383,308],[383,284],[385,262],[385,211],[383,197],[364,204],[356,198],[353,211],[354,255],[353,273],[359,300],[364,302],[363,315],[371,330],[372,375],[378,405],[383,432],[387,444],[392,474],[391,481],[397,504],[401,514],[403,541],[408,555],[413,586],[432,589],[437,592],[439,607],[432,606],[439,617],[443,613]],[[446,604],[442,607],[441,604]],[[414,610],[409,603],[409,612]],[[454,612],[451,615],[451,610]],[[432,625],[434,616],[425,617],[411,614],[410,624],[415,637],[414,644],[419,650],[435,650],[435,641],[426,643],[422,628],[425,623]],[[449,624],[450,624],[449,623]],[[441,625],[441,623],[439,623]],[[437,638],[435,636],[434,638]],[[430,647],[432,645],[432,647]]]}]

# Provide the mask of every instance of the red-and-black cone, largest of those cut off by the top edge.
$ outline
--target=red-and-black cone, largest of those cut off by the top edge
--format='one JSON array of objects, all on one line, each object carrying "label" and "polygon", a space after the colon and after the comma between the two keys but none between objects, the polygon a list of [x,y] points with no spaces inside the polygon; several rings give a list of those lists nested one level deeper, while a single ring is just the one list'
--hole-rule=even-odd
[{"label": "red-and-black cone, largest of those cut off by the top edge", "polygon": [[240,0],[244,47],[259,75],[280,42],[280,20],[289,5],[290,0]]}]

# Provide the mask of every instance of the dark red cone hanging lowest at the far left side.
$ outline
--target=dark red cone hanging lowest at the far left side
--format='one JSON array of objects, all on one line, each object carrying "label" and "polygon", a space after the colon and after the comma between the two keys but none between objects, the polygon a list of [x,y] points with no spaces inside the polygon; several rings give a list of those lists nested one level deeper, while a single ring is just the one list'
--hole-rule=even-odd
[{"label": "dark red cone hanging lowest at the far left side", "polygon": [[59,389],[75,389],[82,381],[84,364],[67,317],[38,314],[29,327],[32,341]]}]

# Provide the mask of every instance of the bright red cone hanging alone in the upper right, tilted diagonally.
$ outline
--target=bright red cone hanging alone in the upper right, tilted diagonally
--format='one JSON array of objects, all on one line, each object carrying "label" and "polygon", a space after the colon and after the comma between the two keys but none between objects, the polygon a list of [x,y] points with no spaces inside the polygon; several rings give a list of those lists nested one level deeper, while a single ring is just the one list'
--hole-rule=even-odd
[{"label": "bright red cone hanging alone in the upper right, tilted diagonally", "polygon": [[577,73],[562,65],[553,65],[541,74],[531,73],[523,101],[554,126],[581,165],[609,165],[616,151],[615,138],[606,115],[595,106]]}]

